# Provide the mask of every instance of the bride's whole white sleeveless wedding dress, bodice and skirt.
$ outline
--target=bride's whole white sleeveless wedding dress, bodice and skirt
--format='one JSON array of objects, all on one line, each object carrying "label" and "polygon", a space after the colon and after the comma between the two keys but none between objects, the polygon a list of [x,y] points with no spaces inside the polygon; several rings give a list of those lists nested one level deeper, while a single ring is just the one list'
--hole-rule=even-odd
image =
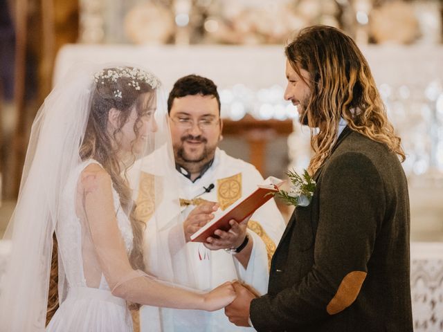
[{"label": "bride's whole white sleeveless wedding dress, bodice and skirt", "polygon": [[[56,234],[59,246],[59,269],[64,271],[62,301],[46,331],[124,332],[133,331],[132,317],[125,299],[111,294],[96,261],[96,252],[87,222],[79,213],[78,180],[83,169],[95,160],[79,165],[69,176],[61,198]],[[114,208],[118,228],[127,252],[132,249],[132,228],[114,187]],[[81,209],[81,208],[80,208]],[[80,216],[78,216],[80,214]],[[60,275],[60,273],[59,273]],[[62,274],[63,275],[63,274]]]}]

